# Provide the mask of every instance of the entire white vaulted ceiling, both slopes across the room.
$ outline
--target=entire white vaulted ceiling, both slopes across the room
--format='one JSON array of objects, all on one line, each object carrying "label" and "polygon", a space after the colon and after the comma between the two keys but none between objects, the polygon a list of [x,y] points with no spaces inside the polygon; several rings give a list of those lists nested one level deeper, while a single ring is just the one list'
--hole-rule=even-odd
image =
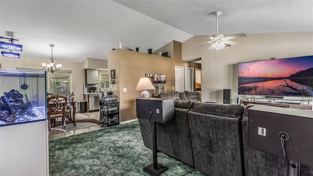
[{"label": "entire white vaulted ceiling, both slopes across the room", "polygon": [[[0,0],[0,35],[21,57],[82,63],[122,43],[140,52],[194,35],[313,32],[313,0]],[[3,42],[8,42],[1,39]]]}]

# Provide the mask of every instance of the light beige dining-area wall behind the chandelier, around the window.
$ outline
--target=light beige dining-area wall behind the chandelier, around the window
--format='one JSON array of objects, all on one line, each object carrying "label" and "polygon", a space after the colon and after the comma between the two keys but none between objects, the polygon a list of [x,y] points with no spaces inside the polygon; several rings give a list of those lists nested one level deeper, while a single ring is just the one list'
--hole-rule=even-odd
[{"label": "light beige dining-area wall behind the chandelier, around the window", "polygon": [[[22,54],[21,54],[22,55]],[[33,59],[33,58],[8,58],[0,56],[2,62],[2,68],[16,69],[20,68],[32,68],[32,69],[42,69],[41,63],[48,63],[48,59]],[[51,62],[51,61],[50,61]],[[92,59],[92,65],[98,65],[101,67],[103,61],[101,59]],[[85,71],[83,63],[73,63],[73,62],[63,62],[55,61],[56,64],[62,64],[62,70],[72,71],[72,91],[74,92],[74,100],[84,100],[83,97],[83,85],[85,84]],[[103,69],[105,68],[103,65]]]}]

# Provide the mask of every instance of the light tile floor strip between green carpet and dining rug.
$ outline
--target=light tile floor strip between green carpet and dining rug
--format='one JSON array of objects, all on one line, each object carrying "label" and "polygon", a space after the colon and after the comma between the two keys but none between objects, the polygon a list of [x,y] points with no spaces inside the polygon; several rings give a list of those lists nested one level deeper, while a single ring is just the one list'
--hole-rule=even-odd
[{"label": "light tile floor strip between green carpet and dining rug", "polygon": [[[82,114],[87,115],[87,116],[94,118],[96,120],[99,120],[99,115],[100,115],[99,111],[85,112]],[[66,136],[70,136],[70,135],[75,135],[75,134],[79,134],[79,133],[83,133],[83,132],[90,132],[90,131],[98,130],[98,129],[100,129],[100,125],[96,125],[96,126],[92,126],[92,127],[88,127],[88,128],[83,128],[83,129],[72,130],[69,132],[60,132],[60,133],[51,134],[51,135],[49,134],[49,140],[58,139],[58,138],[66,137]]]}]

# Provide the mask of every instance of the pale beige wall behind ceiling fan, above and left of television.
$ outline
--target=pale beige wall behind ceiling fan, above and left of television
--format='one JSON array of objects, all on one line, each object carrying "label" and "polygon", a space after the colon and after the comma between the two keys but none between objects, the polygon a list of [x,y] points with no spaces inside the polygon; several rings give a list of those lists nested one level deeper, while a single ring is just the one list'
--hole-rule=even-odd
[{"label": "pale beige wall behind ceiling fan, above and left of television", "polygon": [[223,89],[232,90],[232,103],[238,96],[238,63],[313,55],[313,32],[248,34],[234,39],[239,46],[213,51],[203,36],[194,36],[182,43],[182,59],[202,58],[202,100],[223,103]]}]

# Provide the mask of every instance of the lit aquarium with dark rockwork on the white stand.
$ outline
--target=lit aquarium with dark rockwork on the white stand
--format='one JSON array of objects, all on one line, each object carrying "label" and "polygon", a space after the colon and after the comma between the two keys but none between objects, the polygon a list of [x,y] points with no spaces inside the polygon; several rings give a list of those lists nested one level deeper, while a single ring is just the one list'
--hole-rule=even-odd
[{"label": "lit aquarium with dark rockwork on the white stand", "polygon": [[45,71],[0,69],[0,127],[46,120]]}]

